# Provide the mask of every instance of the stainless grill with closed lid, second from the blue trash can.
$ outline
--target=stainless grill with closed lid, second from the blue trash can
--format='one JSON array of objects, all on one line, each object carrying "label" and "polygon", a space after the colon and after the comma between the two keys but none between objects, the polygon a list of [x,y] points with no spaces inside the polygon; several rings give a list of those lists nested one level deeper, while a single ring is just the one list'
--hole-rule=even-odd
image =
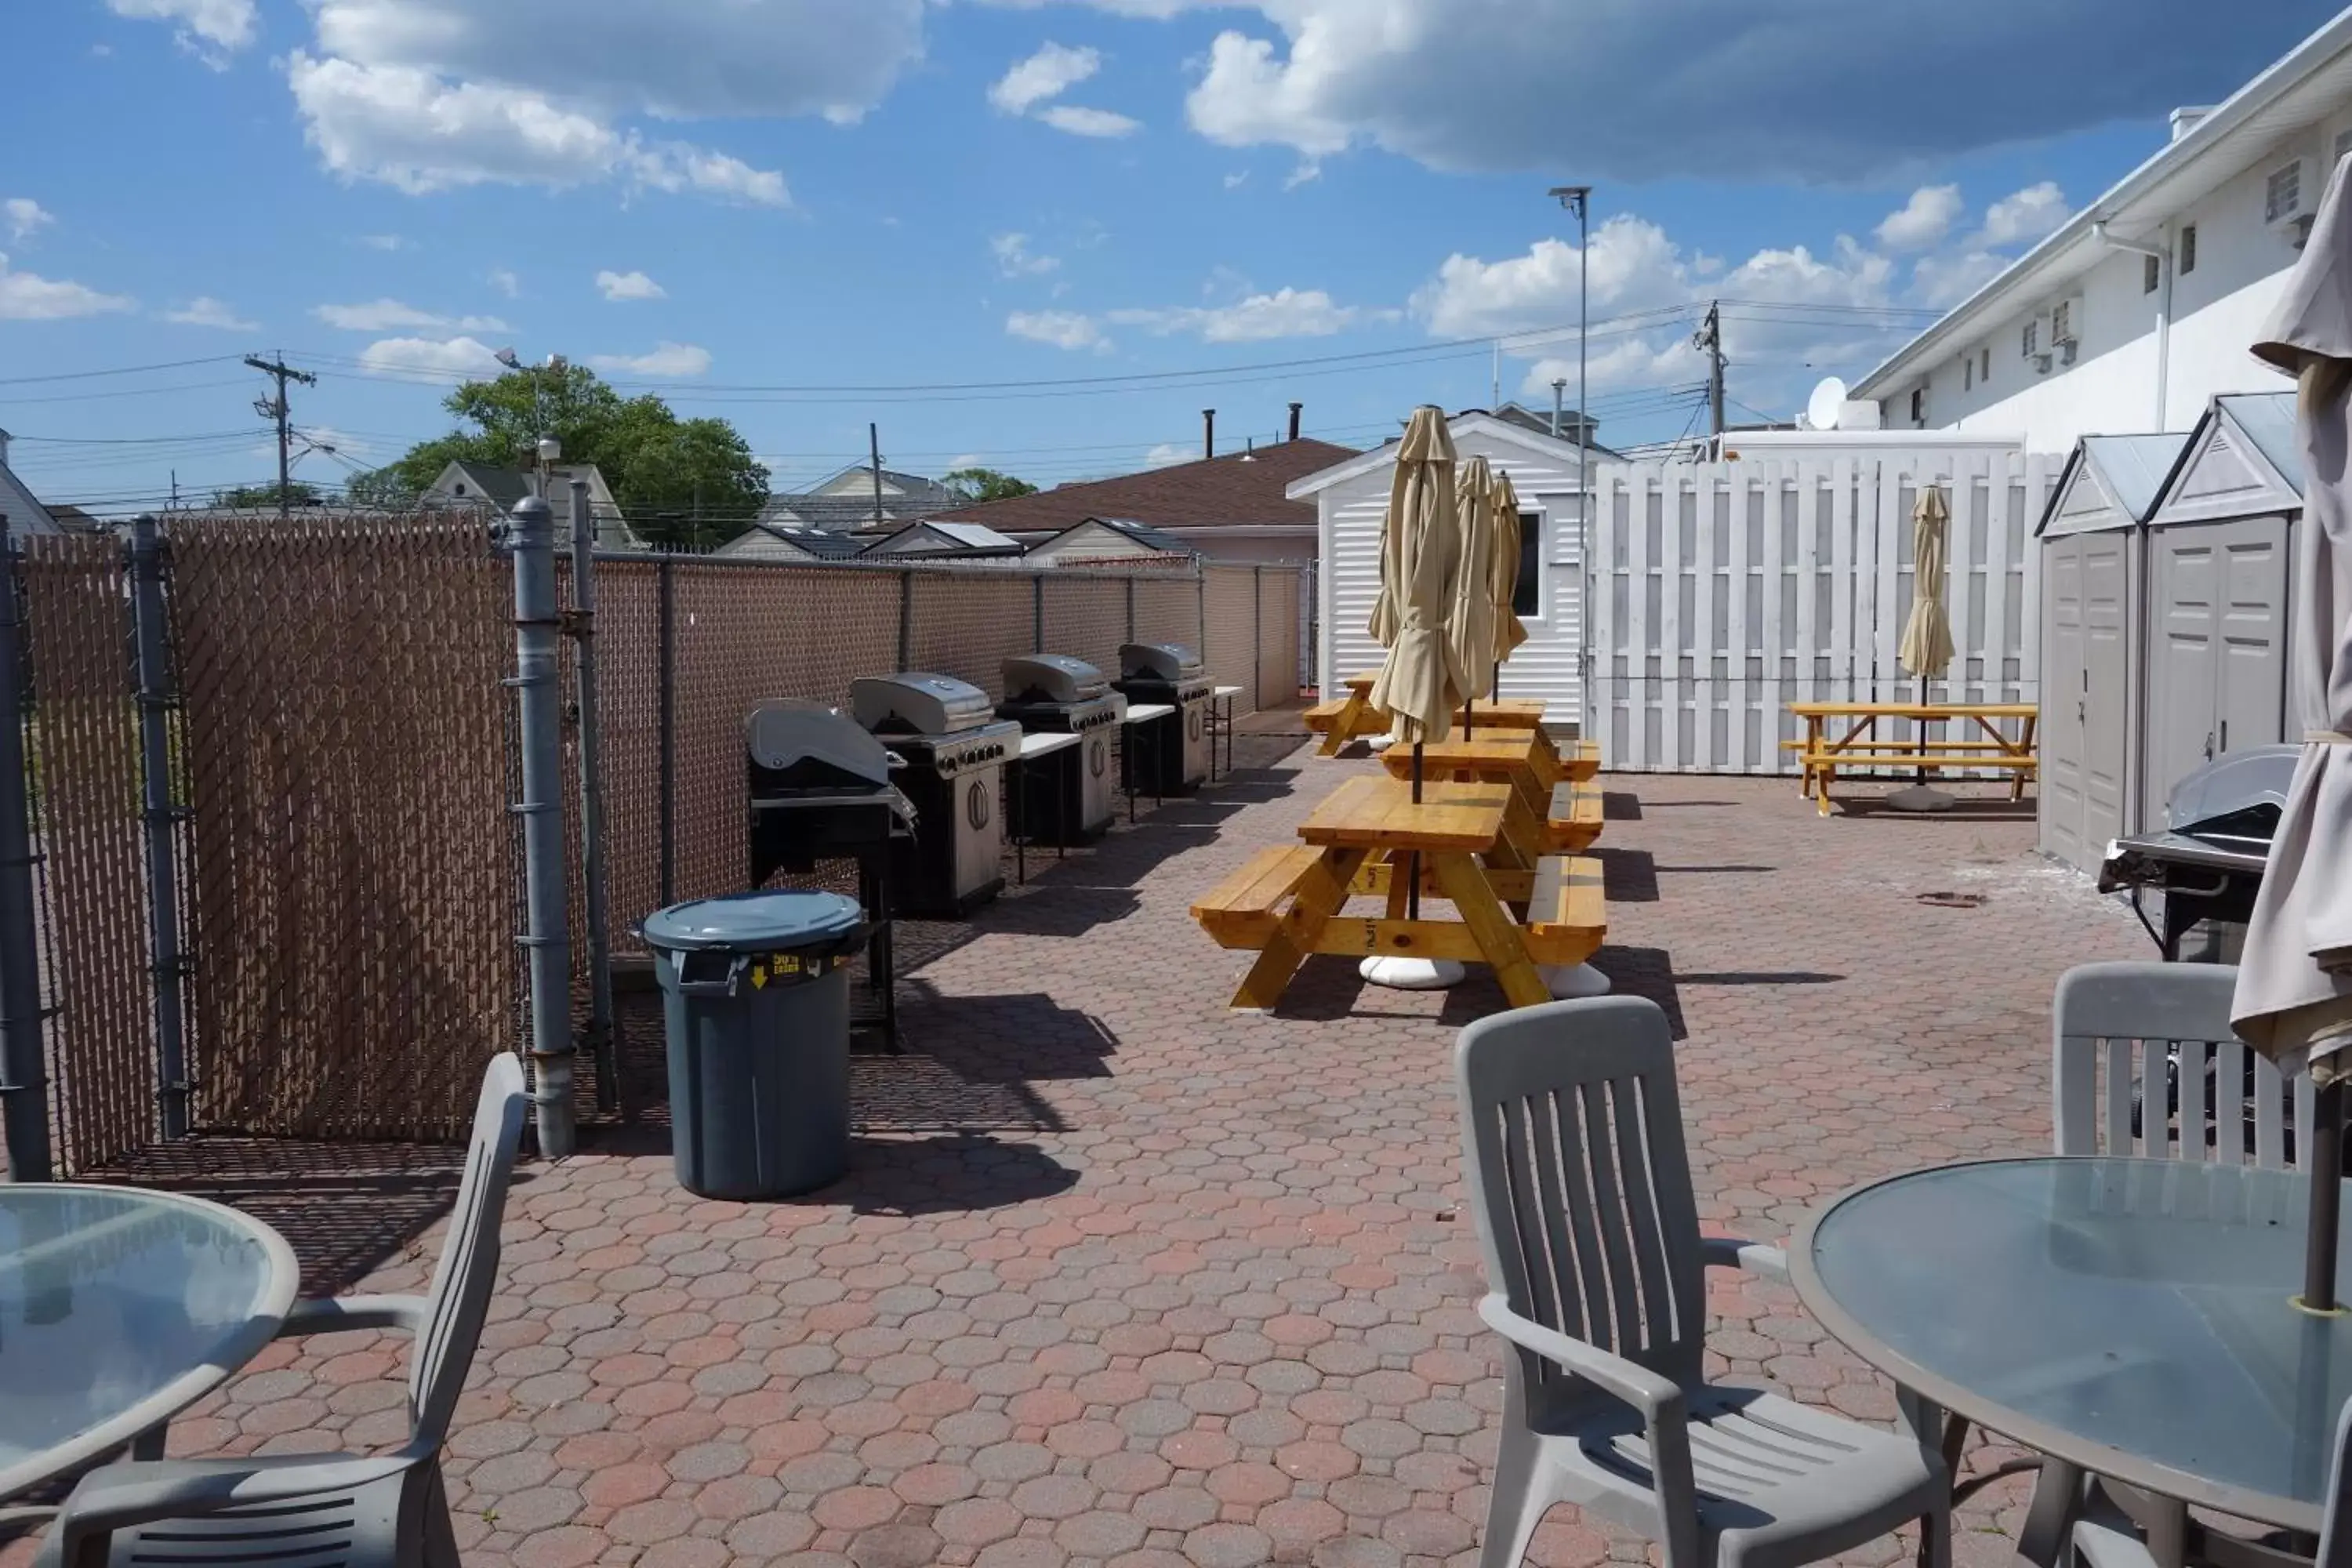
[{"label": "stainless grill with closed lid, second from the blue trash can", "polygon": [[1000,722],[978,686],[927,670],[851,682],[849,712],[906,762],[896,778],[915,804],[915,835],[891,853],[898,914],[962,919],[995,898],[1000,780],[1021,752],[1021,726]]}]

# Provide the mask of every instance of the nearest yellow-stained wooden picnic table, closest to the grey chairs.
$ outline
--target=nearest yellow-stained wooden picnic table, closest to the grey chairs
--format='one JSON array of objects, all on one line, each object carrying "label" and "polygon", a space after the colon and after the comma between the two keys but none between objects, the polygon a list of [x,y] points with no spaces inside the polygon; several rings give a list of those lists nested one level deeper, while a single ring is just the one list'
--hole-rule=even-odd
[{"label": "nearest yellow-stained wooden picnic table, closest to the grey chairs", "polygon": [[[1301,846],[1261,849],[1192,905],[1223,947],[1258,954],[1232,1006],[1275,1006],[1315,952],[1479,961],[1512,1006],[1550,1001],[1536,966],[1583,964],[1606,933],[1602,867],[1545,856],[1529,870],[1489,870],[1510,809],[1505,783],[1423,783],[1421,802],[1409,783],[1381,773],[1341,783],[1298,827]],[[1456,919],[1406,914],[1409,879],[1392,872],[1411,856],[1421,856],[1423,884],[1454,903]],[[1524,924],[1505,907],[1522,886]],[[1348,917],[1357,893],[1385,896],[1385,914]]]}]

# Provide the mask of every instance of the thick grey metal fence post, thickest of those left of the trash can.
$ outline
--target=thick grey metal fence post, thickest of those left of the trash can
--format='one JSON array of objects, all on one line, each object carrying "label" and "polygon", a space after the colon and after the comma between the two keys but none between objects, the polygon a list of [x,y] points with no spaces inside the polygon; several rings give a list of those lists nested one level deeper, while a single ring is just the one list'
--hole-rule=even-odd
[{"label": "thick grey metal fence post, thickest of those left of the trash can", "polygon": [[562,691],[555,639],[555,515],[539,496],[515,503],[515,703],[522,733],[524,931],[532,969],[532,1110],[539,1152],[574,1147],[572,1112],[572,933],[564,929]]}]

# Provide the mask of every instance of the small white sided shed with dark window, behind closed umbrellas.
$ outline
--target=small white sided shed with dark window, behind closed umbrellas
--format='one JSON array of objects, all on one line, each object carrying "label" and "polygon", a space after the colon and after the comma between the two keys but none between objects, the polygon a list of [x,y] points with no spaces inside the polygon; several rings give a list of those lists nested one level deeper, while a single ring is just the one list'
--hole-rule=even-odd
[{"label": "small white sided shed with dark window, behind closed umbrellas", "polygon": [[[1446,421],[1456,456],[1484,456],[1510,475],[1519,496],[1519,623],[1526,642],[1503,665],[1501,696],[1541,696],[1550,724],[1576,724],[1583,712],[1583,559],[1578,555],[1578,449],[1524,430],[1491,414]],[[1595,458],[1606,456],[1595,449]],[[1329,698],[1350,675],[1378,670],[1383,649],[1371,639],[1371,604],[1381,592],[1381,522],[1395,442],[1345,463],[1294,480],[1291,501],[1315,503],[1317,614],[1315,684]]]}]

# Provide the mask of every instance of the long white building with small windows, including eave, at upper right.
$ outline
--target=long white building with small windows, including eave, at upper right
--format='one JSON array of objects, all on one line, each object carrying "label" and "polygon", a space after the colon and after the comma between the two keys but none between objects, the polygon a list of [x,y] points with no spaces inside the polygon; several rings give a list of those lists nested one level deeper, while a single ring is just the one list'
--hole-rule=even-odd
[{"label": "long white building with small windows, including eave, at upper right", "polygon": [[2286,378],[2253,360],[2336,160],[2352,150],[2352,9],[2173,139],[1870,371],[1889,430],[2187,430],[2218,393]]}]

